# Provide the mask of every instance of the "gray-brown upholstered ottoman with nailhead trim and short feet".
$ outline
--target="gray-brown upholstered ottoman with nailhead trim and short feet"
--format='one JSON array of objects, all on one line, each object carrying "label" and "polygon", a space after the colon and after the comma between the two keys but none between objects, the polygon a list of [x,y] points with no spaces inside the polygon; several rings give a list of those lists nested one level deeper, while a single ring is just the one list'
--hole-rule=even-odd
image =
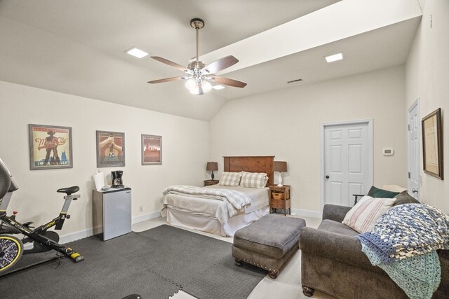
[{"label": "gray-brown upholstered ottoman with nailhead trim and short feet", "polygon": [[275,279],[288,258],[299,249],[300,230],[306,221],[268,214],[234,234],[232,256],[236,265],[250,263],[269,271]]}]

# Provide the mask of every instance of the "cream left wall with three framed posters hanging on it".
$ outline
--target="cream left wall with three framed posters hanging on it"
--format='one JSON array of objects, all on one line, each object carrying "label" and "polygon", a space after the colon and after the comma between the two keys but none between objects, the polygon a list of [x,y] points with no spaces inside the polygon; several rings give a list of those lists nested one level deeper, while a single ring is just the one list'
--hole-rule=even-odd
[{"label": "cream left wall with three framed posters hanging on it", "polygon": [[[96,171],[95,130],[125,132],[123,182],[133,189],[133,217],[160,211],[162,191],[171,184],[202,186],[209,158],[209,123],[0,81],[0,158],[20,189],[8,214],[18,221],[43,223],[62,207],[58,188],[77,185],[81,199],[72,202],[62,235],[92,227],[92,175]],[[72,169],[29,170],[28,124],[72,127]],[[141,165],[140,134],[162,136],[162,165]],[[139,206],[143,211],[139,211]]]}]

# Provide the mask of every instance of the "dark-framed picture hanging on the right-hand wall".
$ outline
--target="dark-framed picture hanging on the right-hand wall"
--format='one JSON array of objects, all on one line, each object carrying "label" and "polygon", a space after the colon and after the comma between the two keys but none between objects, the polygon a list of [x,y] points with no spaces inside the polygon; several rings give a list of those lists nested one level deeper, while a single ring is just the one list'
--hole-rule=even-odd
[{"label": "dark-framed picture hanging on the right-hand wall", "polygon": [[422,148],[424,172],[443,179],[443,134],[441,108],[422,118]]}]

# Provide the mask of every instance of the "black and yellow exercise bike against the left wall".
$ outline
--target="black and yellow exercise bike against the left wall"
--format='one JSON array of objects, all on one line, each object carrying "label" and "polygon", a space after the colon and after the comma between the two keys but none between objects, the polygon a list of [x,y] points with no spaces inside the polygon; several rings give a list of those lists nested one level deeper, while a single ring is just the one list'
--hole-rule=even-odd
[{"label": "black and yellow exercise bike against the left wall", "polygon": [[[65,219],[70,218],[67,211],[72,200],[77,200],[80,197],[80,195],[74,194],[79,190],[79,187],[72,186],[58,189],[56,192],[66,194],[64,196],[65,202],[59,216],[40,225],[38,228],[33,228],[31,226],[33,224],[32,222],[20,223],[15,221],[16,211],[13,212],[13,215],[6,216],[6,209],[15,190],[18,190],[18,186],[13,181],[6,165],[0,159],[0,274],[11,269],[20,260],[22,254],[45,252],[53,249],[62,253],[62,256],[67,256],[74,263],[79,263],[84,260],[81,254],[58,243],[58,233],[48,231],[53,226],[55,230],[60,230]],[[22,234],[25,237],[20,239],[15,236],[18,234]],[[32,249],[24,249],[24,244],[27,243],[32,243]],[[45,260],[40,263],[46,263],[47,261]]]}]

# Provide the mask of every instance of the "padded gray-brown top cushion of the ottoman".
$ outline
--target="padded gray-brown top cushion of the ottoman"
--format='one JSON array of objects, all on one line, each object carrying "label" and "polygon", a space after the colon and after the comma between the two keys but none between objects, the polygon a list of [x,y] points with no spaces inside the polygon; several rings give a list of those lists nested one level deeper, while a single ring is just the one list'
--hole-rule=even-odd
[{"label": "padded gray-brown top cushion of the ottoman", "polygon": [[282,258],[293,246],[298,246],[298,235],[305,225],[306,221],[301,218],[268,214],[237,230],[234,246]]}]

